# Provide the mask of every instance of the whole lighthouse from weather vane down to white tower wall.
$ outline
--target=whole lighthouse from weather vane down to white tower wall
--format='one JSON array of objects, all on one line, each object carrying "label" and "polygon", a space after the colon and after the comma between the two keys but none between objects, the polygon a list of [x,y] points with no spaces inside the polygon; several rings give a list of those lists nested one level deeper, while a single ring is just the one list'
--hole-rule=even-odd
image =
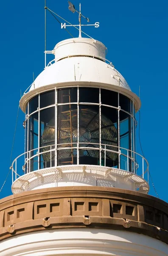
[{"label": "whole lighthouse from weather vane down to white tower wall", "polygon": [[1,256],[168,255],[168,204],[148,195],[136,151],[141,102],[106,50],[80,21],[20,99],[25,152],[0,200]]}]

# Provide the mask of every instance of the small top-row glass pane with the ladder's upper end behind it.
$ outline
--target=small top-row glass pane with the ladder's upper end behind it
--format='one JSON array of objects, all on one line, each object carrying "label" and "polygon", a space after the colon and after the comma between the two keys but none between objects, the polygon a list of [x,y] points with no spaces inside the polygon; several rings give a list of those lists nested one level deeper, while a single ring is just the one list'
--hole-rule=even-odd
[{"label": "small top-row glass pane with the ladder's upper end behind it", "polygon": [[77,102],[77,87],[58,90],[58,103]]}]

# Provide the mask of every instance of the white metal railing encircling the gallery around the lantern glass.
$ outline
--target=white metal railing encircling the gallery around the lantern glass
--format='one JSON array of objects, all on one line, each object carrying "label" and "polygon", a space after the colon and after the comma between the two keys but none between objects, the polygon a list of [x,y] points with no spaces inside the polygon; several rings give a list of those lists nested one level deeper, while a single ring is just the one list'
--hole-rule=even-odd
[{"label": "white metal railing encircling the gallery around the lantern glass", "polygon": [[[82,146],[83,145],[90,145],[89,146]],[[93,147],[93,145],[95,147]],[[46,150],[48,148],[48,150]],[[112,148],[112,149],[109,149]],[[116,148],[116,150],[114,150]],[[58,162],[58,155],[57,151],[62,150],[73,150],[75,149],[77,152],[78,150],[97,150],[101,152],[101,156],[104,155],[104,157],[101,157],[99,166],[106,166],[106,167],[112,167],[113,169],[121,169],[124,171],[128,171],[130,173],[135,173],[145,180],[148,181],[149,173],[148,173],[148,161],[146,158],[144,158],[142,155],[130,151],[127,148],[118,148],[118,146],[115,145],[107,145],[107,144],[99,144],[99,143],[66,143],[66,144],[58,144],[55,147],[54,145],[45,145],[40,148],[32,149],[28,152],[25,152],[18,157],[15,158],[11,165],[12,169],[12,183],[14,180],[16,180],[18,177],[30,173],[33,171],[38,171],[40,169],[44,169],[46,167],[56,167],[55,166],[55,158],[57,158]],[[126,152],[126,154],[123,153]],[[108,152],[112,154],[116,154],[118,166],[108,166],[106,165],[106,161],[108,159]],[[44,161],[43,156],[44,154],[48,154],[49,161]],[[40,157],[41,156],[41,157]],[[56,156],[56,157],[55,157]],[[134,157],[133,157],[134,156]],[[74,157],[80,157],[79,154],[76,154]],[[41,158],[41,159],[40,159]],[[102,161],[103,160],[103,161]],[[78,163],[78,161],[77,161]],[[54,166],[53,166],[54,164]],[[40,166],[42,165],[42,168]],[[48,165],[48,166],[47,166]]]}]

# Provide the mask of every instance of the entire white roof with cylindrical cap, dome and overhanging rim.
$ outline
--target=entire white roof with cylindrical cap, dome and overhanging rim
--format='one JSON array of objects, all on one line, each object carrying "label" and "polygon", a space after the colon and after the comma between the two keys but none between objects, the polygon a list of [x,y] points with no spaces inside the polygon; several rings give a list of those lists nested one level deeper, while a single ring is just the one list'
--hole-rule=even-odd
[{"label": "entire white roof with cylindrical cap, dome and overhanging rim", "polygon": [[139,97],[132,93],[123,76],[106,63],[106,47],[90,38],[71,38],[59,42],[50,53],[55,54],[54,63],[37,76],[29,91],[20,99],[25,111],[27,102],[36,94],[55,87],[89,86],[115,90],[134,99],[135,110],[140,108]]}]

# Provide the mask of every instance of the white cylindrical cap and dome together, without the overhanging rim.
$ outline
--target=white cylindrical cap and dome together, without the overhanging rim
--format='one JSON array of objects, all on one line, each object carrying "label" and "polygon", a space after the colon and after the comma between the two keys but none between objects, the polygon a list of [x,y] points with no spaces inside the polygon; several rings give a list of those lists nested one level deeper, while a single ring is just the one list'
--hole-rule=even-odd
[{"label": "white cylindrical cap and dome together, without the overhanging rim", "polygon": [[59,42],[52,51],[55,58],[39,74],[30,90],[67,81],[94,81],[130,91],[123,76],[106,60],[106,49],[100,41],[90,38],[70,38]]}]

